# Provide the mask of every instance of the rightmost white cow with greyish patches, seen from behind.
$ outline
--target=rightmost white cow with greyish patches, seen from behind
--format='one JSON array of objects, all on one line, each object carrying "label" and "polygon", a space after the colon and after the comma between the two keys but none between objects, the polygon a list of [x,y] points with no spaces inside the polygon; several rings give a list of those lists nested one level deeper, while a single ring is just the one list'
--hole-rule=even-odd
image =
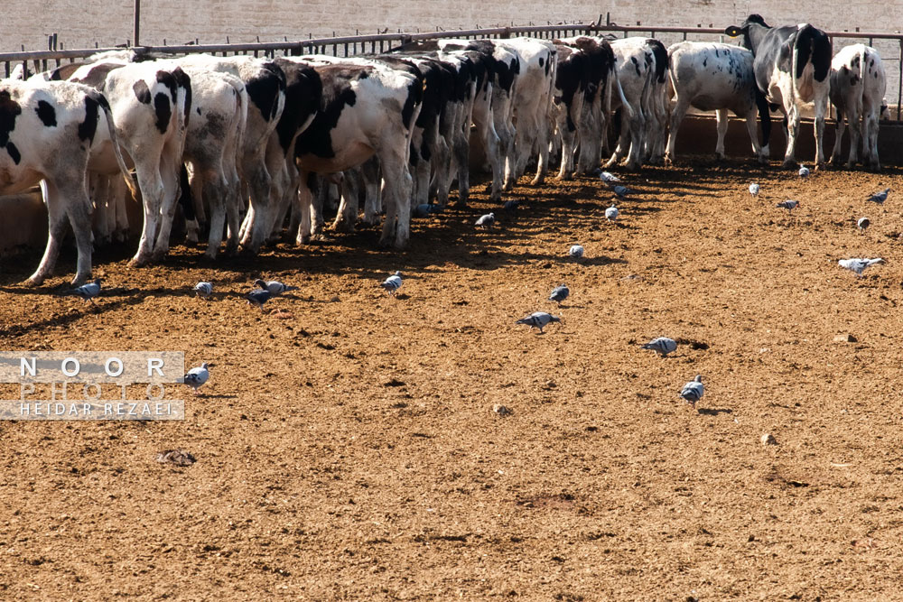
[{"label": "rightmost white cow with greyish patches, seen from behind", "polygon": [[844,118],[850,124],[850,154],[847,167],[859,161],[872,171],[881,169],[878,160],[878,120],[884,107],[887,75],[878,51],[865,44],[841,49],[831,61],[831,102],[837,109],[837,134],[831,162],[842,162],[841,142]]}]

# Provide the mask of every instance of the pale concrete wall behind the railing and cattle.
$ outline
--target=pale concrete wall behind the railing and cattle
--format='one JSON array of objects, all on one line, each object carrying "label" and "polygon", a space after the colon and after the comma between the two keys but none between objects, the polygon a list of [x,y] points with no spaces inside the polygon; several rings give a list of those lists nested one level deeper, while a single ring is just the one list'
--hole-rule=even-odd
[{"label": "pale concrete wall behind the railing and cattle", "polygon": [[[0,18],[0,51],[43,50],[47,35],[59,33],[66,48],[123,43],[132,38],[132,0],[6,0]],[[433,31],[470,28],[479,24],[545,24],[548,21],[595,20],[610,13],[620,24],[696,25],[722,27],[751,12],[769,23],[810,21],[823,29],[890,32],[900,23],[897,3],[862,0],[675,0],[639,2],[610,0],[565,3],[538,0],[144,0],[141,42],[253,42],[360,32],[377,28]],[[891,56],[896,56],[891,54]]]}]

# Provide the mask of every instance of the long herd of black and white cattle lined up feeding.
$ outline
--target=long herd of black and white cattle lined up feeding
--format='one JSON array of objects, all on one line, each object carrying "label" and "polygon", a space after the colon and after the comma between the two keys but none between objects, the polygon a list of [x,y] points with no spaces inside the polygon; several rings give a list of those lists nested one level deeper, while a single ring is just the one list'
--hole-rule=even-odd
[{"label": "long herd of black and white cattle lined up feeding", "polygon": [[[0,194],[40,183],[49,236],[29,282],[51,273],[68,217],[80,284],[92,238],[126,231],[129,194],[144,207],[136,265],[167,253],[180,204],[190,237],[198,220],[209,225],[211,258],[224,233],[226,253],[256,253],[286,221],[306,242],[324,226],[333,185],[333,227],[353,229],[363,199],[370,224],[385,208],[380,244],[402,248],[412,207],[443,207],[455,181],[467,202],[471,152],[491,171],[490,199],[499,201],[531,164],[538,184],[553,160],[563,180],[603,161],[626,160],[630,170],[673,161],[689,107],[717,111],[719,156],[727,112],[745,117],[762,162],[769,109],[780,109],[788,165],[801,106],[812,102],[819,167],[830,100],[838,116],[831,161],[842,162],[845,117],[847,165],[861,153],[880,169],[885,74],[874,49],[848,46],[832,60],[824,32],[769,27],[755,14],[725,32],[742,36],[743,47],[580,36],[412,42],[366,58],[100,54],[0,79]],[[610,125],[619,130],[613,151]]]}]

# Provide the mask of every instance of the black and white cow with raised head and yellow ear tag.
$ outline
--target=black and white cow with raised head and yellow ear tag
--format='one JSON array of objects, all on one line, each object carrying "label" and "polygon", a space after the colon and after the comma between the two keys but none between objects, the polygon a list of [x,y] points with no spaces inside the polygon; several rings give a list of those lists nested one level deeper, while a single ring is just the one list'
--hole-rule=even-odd
[{"label": "black and white cow with raised head and yellow ear tag", "polygon": [[796,166],[796,138],[803,104],[815,104],[815,169],[824,166],[824,116],[831,79],[831,39],[808,23],[771,27],[759,14],[724,30],[743,36],[743,46],[755,55],[753,70],[759,90],[778,105],[787,119],[784,166]]}]

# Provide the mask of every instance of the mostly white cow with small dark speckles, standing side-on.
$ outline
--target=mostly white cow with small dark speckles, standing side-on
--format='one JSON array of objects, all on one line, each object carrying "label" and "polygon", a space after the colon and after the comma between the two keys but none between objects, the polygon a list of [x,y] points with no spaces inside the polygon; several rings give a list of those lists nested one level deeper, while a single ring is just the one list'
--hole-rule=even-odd
[{"label": "mostly white cow with small dark speckles, standing side-on", "polygon": [[[715,153],[724,158],[728,111],[746,119],[752,151],[760,163],[768,162],[771,116],[765,96],[756,85],[752,52],[718,42],[678,42],[668,48],[670,85],[676,102],[671,109],[666,162],[674,162],[677,131],[690,107],[715,111],[718,142]],[[670,95],[669,95],[670,96]],[[756,116],[762,120],[762,144],[756,134]]]}]

